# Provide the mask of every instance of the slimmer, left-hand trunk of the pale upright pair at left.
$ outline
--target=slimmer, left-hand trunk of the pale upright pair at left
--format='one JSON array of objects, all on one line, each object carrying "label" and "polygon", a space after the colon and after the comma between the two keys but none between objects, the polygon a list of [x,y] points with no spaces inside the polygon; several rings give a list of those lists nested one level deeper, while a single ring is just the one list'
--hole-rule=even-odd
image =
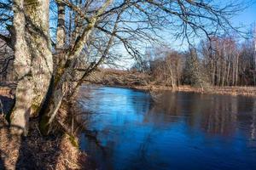
[{"label": "slimmer, left-hand trunk of the pale upright pair at left", "polygon": [[14,27],[15,27],[15,74],[19,83],[16,88],[16,104],[14,111],[10,117],[11,123],[20,127],[21,133],[26,129],[26,122],[30,114],[32,104],[32,76],[30,74],[31,57],[28,52],[25,39],[25,14],[24,2],[20,0],[14,1]]}]

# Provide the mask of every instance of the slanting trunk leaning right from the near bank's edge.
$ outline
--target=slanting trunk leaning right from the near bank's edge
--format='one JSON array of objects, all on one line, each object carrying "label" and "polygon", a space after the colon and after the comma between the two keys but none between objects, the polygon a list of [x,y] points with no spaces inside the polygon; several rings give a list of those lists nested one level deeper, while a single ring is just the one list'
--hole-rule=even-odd
[{"label": "slanting trunk leaning right from the near bank's edge", "polygon": [[[51,124],[61,106],[62,99],[67,94],[67,90],[69,89],[68,82],[71,82],[73,79],[72,75],[75,68],[75,61],[79,58],[79,55],[84,48],[84,43],[88,40],[91,31],[96,26],[96,21],[99,19],[99,15],[102,14],[106,8],[108,8],[110,3],[112,3],[112,0],[107,0],[102,7],[97,10],[96,14],[93,15],[90,20],[88,20],[88,25],[84,28],[81,36],[76,40],[73,49],[67,54],[66,64],[61,65],[61,68],[58,68],[60,71],[57,71],[58,73],[55,77],[53,94],[50,98],[49,105],[47,105],[46,112],[40,122],[40,129],[44,135],[49,134]],[[76,84],[74,84],[74,86],[76,86]]]}]

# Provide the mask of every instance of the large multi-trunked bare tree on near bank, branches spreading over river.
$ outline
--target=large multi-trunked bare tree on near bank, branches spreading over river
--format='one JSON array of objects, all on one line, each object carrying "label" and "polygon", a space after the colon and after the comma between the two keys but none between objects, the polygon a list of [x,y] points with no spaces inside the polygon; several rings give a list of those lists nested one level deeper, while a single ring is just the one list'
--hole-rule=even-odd
[{"label": "large multi-trunked bare tree on near bank, branches spreading over river", "polygon": [[[193,37],[234,29],[230,17],[242,9],[238,1],[212,0],[14,0],[0,4],[5,12],[10,6],[14,11],[7,20],[13,18],[10,27],[15,33],[9,29],[0,37],[15,49],[18,87],[11,122],[26,133],[28,117],[41,111],[44,134],[50,132],[63,100],[76,94],[83,78],[98,65],[116,59],[113,47],[122,45],[139,59],[139,44],[156,42],[161,30],[191,43]],[[55,8],[49,4],[57,4],[54,36],[49,34],[49,8]],[[9,41],[12,37],[15,45]]]}]

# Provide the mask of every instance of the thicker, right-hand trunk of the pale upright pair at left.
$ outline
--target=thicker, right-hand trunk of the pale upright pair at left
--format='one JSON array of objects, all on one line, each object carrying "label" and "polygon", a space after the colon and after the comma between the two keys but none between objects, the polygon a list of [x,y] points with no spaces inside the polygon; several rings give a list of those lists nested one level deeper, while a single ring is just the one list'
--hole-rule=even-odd
[{"label": "thicker, right-hand trunk of the pale upright pair at left", "polygon": [[48,92],[53,72],[49,40],[49,0],[25,0],[26,39],[32,55],[33,93],[32,116],[38,116]]}]

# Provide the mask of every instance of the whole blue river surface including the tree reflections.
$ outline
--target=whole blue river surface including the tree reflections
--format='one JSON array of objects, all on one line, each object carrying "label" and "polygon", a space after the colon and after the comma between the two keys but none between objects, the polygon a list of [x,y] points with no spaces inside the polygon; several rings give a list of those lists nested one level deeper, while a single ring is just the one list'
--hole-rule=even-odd
[{"label": "whole blue river surface including the tree reflections", "polygon": [[80,102],[97,132],[81,149],[99,169],[256,169],[256,99],[166,92],[156,104],[102,87]]}]

